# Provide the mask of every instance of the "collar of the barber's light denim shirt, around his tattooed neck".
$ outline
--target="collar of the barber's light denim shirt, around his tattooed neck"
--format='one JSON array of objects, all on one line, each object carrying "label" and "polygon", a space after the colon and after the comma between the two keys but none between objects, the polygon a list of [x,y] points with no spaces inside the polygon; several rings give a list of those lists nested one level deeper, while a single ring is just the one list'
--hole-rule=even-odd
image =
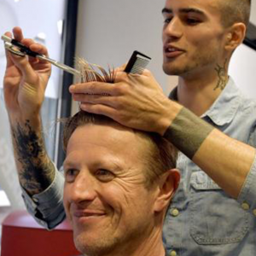
[{"label": "collar of the barber's light denim shirt, around his tattooed neck", "polygon": [[[171,91],[169,98],[172,101],[177,101],[177,87]],[[229,78],[224,90],[212,104],[211,108],[201,115],[201,118],[208,117],[216,125],[229,124],[236,115],[239,101],[240,90],[236,87],[234,80]]]}]

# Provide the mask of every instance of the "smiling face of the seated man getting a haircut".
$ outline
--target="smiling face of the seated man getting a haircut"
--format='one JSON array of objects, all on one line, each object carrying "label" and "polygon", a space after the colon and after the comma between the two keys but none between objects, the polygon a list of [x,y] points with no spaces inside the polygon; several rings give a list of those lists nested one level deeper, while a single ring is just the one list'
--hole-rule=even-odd
[{"label": "smiling face of the seated man getting a haircut", "polygon": [[82,125],[73,132],[64,164],[64,207],[82,253],[129,247],[150,234],[157,189],[145,186],[147,147],[119,125]]}]

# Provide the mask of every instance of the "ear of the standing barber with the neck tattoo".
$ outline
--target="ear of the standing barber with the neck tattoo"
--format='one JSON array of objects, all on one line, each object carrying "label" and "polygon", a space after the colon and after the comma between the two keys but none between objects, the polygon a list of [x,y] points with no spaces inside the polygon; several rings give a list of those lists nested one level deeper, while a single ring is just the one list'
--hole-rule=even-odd
[{"label": "ear of the standing barber with the neck tattoo", "polygon": [[244,23],[235,23],[230,26],[226,33],[225,49],[233,52],[244,40],[247,32],[247,26]]}]

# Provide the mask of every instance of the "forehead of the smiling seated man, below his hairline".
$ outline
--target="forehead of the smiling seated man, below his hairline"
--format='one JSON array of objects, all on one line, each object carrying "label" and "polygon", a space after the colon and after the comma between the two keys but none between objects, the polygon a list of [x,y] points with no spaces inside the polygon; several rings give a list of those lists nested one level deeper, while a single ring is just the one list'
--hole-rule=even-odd
[{"label": "forehead of the smiling seated man, below his hairline", "polygon": [[97,150],[104,155],[119,158],[141,159],[147,151],[147,139],[137,132],[119,125],[79,126],[67,143],[67,158],[78,154],[90,154]]}]

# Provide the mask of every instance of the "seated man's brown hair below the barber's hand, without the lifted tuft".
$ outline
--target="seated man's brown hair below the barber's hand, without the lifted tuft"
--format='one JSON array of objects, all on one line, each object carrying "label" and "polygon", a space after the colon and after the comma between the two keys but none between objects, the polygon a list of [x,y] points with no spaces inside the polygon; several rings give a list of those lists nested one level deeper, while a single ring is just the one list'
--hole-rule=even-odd
[{"label": "seated man's brown hair below the barber's hand, without the lifted tuft", "polygon": [[[79,126],[96,124],[96,125],[111,125],[118,124],[113,119],[107,116],[87,113],[80,110],[73,117],[67,119],[63,131],[63,146],[67,150],[67,143],[70,137]],[[130,128],[127,128],[130,129]],[[177,149],[169,143],[164,137],[157,133],[138,131],[131,129],[138,134],[138,136],[146,139],[148,143],[148,154],[144,158],[146,166],[146,187],[149,188],[157,177],[160,177],[164,172],[175,168],[177,160]]]}]

